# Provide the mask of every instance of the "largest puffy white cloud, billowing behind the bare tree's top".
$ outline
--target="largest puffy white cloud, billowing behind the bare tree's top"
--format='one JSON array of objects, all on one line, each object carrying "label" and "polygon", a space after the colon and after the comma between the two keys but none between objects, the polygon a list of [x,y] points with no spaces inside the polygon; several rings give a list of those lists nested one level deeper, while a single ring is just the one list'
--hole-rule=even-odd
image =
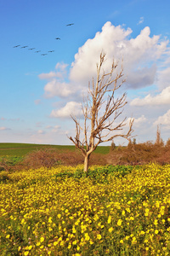
[{"label": "largest puffy white cloud, billowing behind the bare tree's top", "polygon": [[150,37],[150,27],[146,26],[136,38],[129,38],[132,30],[113,26],[106,22],[101,32],[79,48],[71,65],[70,79],[77,83],[95,76],[96,63],[101,51],[106,53],[105,72],[111,68],[113,57],[122,60],[127,75],[128,88],[145,87],[156,79],[156,60],[167,49],[168,41],[159,42],[160,36]]}]

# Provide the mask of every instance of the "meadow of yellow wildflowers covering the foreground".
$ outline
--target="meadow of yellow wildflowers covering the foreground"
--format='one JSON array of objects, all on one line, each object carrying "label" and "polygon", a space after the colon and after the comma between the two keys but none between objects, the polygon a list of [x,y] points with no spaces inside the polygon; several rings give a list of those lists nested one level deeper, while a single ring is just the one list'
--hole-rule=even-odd
[{"label": "meadow of yellow wildflowers covering the foreground", "polygon": [[123,168],[0,172],[0,255],[170,255],[170,166]]}]

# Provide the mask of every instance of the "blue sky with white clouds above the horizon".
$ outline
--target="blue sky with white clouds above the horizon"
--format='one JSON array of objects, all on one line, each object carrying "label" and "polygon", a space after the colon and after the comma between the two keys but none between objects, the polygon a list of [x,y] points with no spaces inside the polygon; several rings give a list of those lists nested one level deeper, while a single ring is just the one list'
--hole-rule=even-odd
[{"label": "blue sky with white clouds above the horizon", "polygon": [[137,142],[154,141],[157,125],[166,141],[169,9],[168,0],[0,0],[0,142],[71,144],[70,112],[81,116],[82,90],[102,49],[109,64],[123,55],[123,114],[135,119]]}]

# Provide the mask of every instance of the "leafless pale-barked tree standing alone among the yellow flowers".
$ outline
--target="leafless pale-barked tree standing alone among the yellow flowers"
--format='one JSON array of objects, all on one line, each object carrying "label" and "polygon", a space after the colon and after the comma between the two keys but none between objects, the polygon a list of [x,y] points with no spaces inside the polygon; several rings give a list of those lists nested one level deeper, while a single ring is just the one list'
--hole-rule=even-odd
[{"label": "leafless pale-barked tree standing alone among the yellow flowers", "polygon": [[[133,132],[133,119],[131,119],[127,133],[116,132],[114,134],[114,131],[120,131],[126,125],[126,118],[122,119],[118,125],[113,125],[115,120],[122,114],[123,107],[127,104],[126,93],[115,99],[115,91],[121,87],[125,79],[122,79],[123,68],[119,73],[116,73],[118,63],[114,61],[111,66],[111,72],[103,72],[100,75],[104,61],[105,54],[101,53],[99,64],[97,64],[96,82],[94,83],[93,79],[92,85],[88,85],[88,96],[82,104],[83,126],[80,125],[80,121],[76,117],[71,116],[76,124],[76,137],[69,138],[84,156],[84,172],[88,172],[90,154],[100,143],[112,141],[115,137],[124,137],[129,140]],[[116,73],[115,78],[113,78],[114,73]],[[83,132],[83,138],[81,138],[81,132]]]}]

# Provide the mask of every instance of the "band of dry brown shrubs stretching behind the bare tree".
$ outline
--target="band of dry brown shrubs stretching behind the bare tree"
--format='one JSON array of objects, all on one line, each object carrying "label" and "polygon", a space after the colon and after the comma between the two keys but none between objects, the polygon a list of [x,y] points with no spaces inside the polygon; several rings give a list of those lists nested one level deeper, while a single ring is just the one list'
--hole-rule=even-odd
[{"label": "band of dry brown shrubs stretching behind the bare tree", "polygon": [[[36,169],[39,167],[51,168],[53,166],[77,166],[83,164],[83,155],[77,149],[59,150],[54,148],[42,148],[27,154],[23,160],[17,164],[3,160],[0,171],[17,171],[20,169]],[[89,166],[91,165],[144,165],[150,162],[164,165],[170,163],[170,139],[163,143],[146,142],[136,144],[135,141],[128,143],[127,147],[118,146],[111,143],[109,154],[95,153],[91,155]]]}]

